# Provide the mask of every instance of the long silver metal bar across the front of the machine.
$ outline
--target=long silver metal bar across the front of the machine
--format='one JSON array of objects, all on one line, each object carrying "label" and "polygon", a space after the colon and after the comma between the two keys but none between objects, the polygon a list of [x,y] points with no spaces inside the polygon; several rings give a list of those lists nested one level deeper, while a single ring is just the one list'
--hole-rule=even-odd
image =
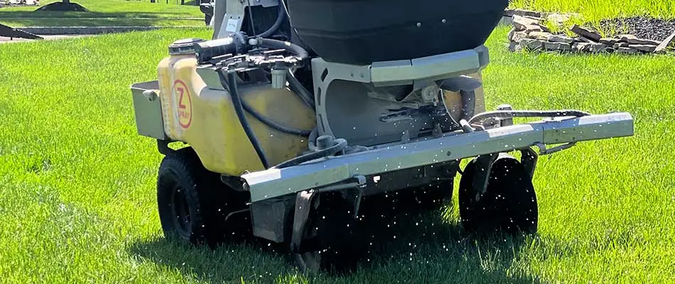
[{"label": "long silver metal bar across the front of the machine", "polygon": [[633,119],[628,113],[567,117],[472,133],[447,133],[441,138],[393,144],[289,168],[247,173],[242,175],[242,179],[251,192],[251,202],[257,202],[333,185],[357,175],[377,175],[478,155],[517,151],[539,144],[632,136],[633,131]]}]

